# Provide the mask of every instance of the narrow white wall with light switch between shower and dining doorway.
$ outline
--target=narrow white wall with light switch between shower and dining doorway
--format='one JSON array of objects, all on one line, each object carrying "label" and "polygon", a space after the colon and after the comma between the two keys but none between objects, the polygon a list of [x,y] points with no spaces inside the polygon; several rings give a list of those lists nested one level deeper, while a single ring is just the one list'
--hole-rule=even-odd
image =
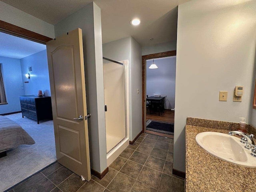
[{"label": "narrow white wall with light switch between shower and dining doorway", "polygon": [[[142,48],[131,38],[132,140],[142,130]],[[137,89],[139,93],[137,94]]]}]

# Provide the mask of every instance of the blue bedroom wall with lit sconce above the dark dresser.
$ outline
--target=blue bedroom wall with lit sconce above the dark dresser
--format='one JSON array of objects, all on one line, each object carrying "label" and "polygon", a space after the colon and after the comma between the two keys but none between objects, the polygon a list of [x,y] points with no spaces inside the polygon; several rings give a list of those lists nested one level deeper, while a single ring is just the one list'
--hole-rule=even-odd
[{"label": "blue bedroom wall with lit sconce above the dark dresser", "polygon": [[[29,82],[23,83],[25,95],[37,95],[38,90],[42,90],[45,96],[51,96],[46,50],[20,59],[20,64],[23,82]],[[29,66],[32,66],[32,72],[29,72],[30,79],[27,79],[25,74]]]}]

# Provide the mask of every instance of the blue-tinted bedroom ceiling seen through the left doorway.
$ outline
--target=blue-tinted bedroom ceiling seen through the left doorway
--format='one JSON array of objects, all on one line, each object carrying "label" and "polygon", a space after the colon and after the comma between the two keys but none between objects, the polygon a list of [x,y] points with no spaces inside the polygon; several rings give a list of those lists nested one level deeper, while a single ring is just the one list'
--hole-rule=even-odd
[{"label": "blue-tinted bedroom ceiling seen through the left doorway", "polygon": [[46,45],[2,32],[0,32],[0,45],[0,56],[16,59],[46,50]]}]

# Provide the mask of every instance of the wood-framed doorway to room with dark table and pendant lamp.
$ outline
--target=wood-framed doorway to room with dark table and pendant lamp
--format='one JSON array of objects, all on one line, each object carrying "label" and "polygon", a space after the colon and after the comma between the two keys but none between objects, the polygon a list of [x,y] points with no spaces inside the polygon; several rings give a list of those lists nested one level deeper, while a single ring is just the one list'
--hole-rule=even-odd
[{"label": "wood-framed doorway to room with dark table and pendant lamp", "polygon": [[174,138],[176,51],[142,56],[144,132]]}]

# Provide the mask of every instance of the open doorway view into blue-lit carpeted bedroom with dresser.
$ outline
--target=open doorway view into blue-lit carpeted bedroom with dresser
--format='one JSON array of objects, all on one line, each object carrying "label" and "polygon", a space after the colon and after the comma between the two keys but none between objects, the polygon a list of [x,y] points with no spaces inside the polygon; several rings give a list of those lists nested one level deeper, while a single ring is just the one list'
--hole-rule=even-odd
[{"label": "open doorway view into blue-lit carpeted bedroom with dresser", "polygon": [[5,191],[57,158],[46,45],[2,30],[0,44],[0,191]]}]

